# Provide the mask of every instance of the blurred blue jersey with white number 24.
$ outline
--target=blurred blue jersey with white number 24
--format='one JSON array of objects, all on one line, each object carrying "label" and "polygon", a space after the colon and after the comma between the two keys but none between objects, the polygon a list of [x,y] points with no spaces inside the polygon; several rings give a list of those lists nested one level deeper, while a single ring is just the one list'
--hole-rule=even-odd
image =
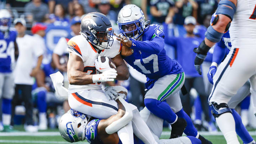
[{"label": "blurred blue jersey with white number 24", "polygon": [[9,31],[6,34],[0,31],[0,73],[12,72],[11,52],[14,48],[17,33],[16,31]]}]

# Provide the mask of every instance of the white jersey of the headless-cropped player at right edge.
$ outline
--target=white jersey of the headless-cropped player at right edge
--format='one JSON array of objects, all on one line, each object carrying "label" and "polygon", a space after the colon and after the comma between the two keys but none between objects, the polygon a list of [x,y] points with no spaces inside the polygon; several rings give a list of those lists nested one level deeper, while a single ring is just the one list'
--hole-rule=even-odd
[{"label": "white jersey of the headless-cropped player at right edge", "polygon": [[256,0],[237,0],[236,13],[229,28],[233,48],[256,46]]}]

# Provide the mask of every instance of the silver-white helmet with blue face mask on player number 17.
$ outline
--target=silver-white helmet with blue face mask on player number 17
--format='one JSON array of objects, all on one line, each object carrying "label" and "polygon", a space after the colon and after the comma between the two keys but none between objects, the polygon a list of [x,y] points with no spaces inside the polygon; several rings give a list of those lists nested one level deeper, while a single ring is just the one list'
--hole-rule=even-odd
[{"label": "silver-white helmet with blue face mask on player number 17", "polygon": [[137,39],[145,29],[144,13],[136,5],[126,5],[119,11],[117,25],[124,36]]}]

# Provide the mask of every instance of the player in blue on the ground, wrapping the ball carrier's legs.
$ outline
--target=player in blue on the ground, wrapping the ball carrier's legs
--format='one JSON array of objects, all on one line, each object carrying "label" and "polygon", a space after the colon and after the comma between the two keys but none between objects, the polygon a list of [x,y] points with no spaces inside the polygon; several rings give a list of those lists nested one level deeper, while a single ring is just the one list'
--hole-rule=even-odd
[{"label": "player in blue on the ground, wrapping the ball carrier's legs", "polygon": [[[126,97],[127,93],[124,91],[127,90],[120,91],[124,89],[121,86],[117,86],[115,88],[117,89],[117,97],[118,95],[123,95]],[[124,105],[130,105],[130,107],[135,106],[128,104],[123,99],[120,100],[118,98],[116,101],[119,108],[118,113],[107,119],[97,119],[94,117],[86,116],[85,114],[71,109],[60,118],[60,134],[68,142],[78,142],[86,139],[90,144],[122,144],[116,132],[113,132],[112,134],[107,133],[107,127],[118,121],[118,119],[122,119],[126,113]],[[144,132],[151,132],[151,138],[155,139],[157,144],[201,144],[199,139],[191,136],[159,140],[159,137],[154,134],[154,131],[149,129],[144,121],[148,121],[148,119],[150,119],[150,121],[154,121],[155,123],[159,124],[150,126],[151,128],[161,129],[164,120],[154,116],[153,114],[150,114],[146,108],[143,110],[143,112],[139,113],[138,109],[135,107],[133,108],[133,113],[133,128],[138,126],[138,122],[143,124]],[[140,116],[140,114],[142,114],[142,116]],[[134,139],[134,144],[144,143],[136,137]]]}]

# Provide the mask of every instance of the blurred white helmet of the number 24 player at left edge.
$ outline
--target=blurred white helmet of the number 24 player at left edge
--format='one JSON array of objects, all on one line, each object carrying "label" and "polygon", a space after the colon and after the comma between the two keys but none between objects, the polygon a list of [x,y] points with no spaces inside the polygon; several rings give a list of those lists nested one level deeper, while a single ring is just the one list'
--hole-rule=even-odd
[{"label": "blurred white helmet of the number 24 player at left edge", "polygon": [[0,31],[7,31],[11,27],[11,14],[6,9],[0,10]]}]

